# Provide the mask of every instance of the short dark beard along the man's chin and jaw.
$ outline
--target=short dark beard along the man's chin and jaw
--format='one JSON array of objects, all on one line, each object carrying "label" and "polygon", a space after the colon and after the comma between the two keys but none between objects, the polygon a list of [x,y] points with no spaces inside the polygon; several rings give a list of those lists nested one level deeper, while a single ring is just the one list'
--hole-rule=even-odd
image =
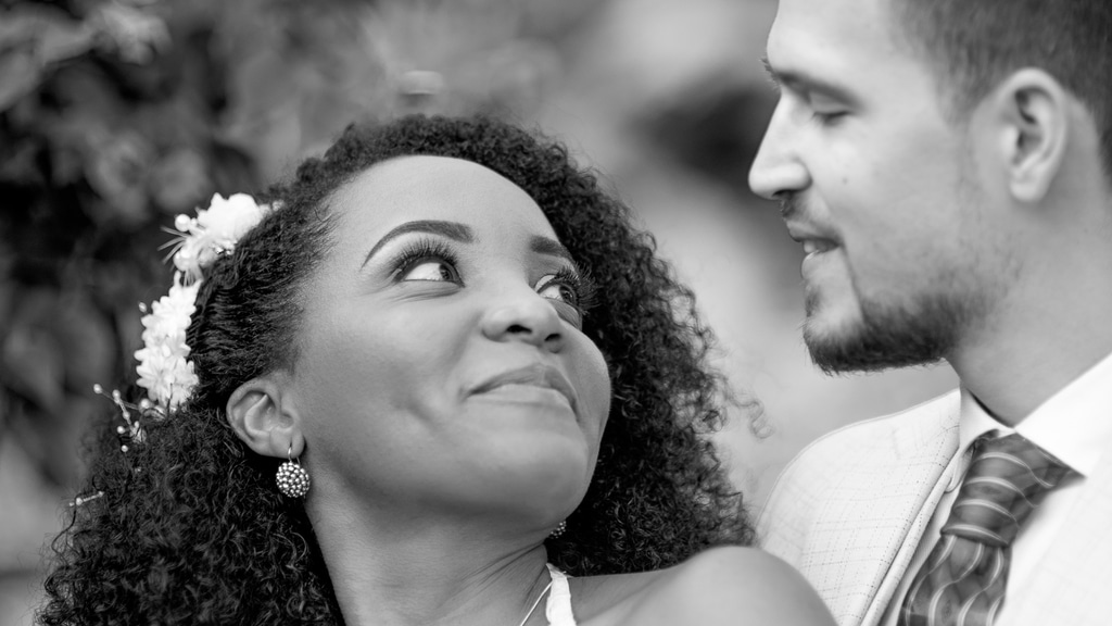
[{"label": "short dark beard along the man's chin and jaw", "polygon": [[903,306],[861,300],[861,321],[838,333],[817,334],[810,325],[816,304],[808,299],[803,339],[811,359],[827,373],[876,372],[935,363],[959,341],[974,303],[952,295],[921,296]]}]

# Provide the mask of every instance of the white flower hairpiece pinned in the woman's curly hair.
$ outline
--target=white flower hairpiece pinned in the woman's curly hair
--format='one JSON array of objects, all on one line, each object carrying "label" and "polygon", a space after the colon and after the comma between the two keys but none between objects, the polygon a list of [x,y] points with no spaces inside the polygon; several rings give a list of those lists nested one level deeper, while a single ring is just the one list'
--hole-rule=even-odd
[{"label": "white flower hairpiece pinned in the woman's curly hair", "polygon": [[201,286],[201,270],[218,255],[231,252],[252,226],[262,219],[268,205],[259,205],[247,194],[225,199],[212,196],[208,209],[198,209],[197,217],[179,215],[175,229],[179,238],[173,252],[173,285],[170,293],[155,302],[150,310],[140,305],[143,348],[136,351],[139,387],[156,405],[171,412],[189,399],[197,384],[193,364],[189,361],[186,331],[197,310],[197,292]]}]

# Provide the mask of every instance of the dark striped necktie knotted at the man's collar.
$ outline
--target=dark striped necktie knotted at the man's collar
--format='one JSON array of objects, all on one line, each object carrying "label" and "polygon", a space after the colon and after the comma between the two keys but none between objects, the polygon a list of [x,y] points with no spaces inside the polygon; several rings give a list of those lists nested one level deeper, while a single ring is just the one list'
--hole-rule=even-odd
[{"label": "dark striped necktie knotted at the man's collar", "polygon": [[1019,434],[980,442],[939,542],[912,580],[900,626],[991,626],[1011,542],[1070,468]]}]

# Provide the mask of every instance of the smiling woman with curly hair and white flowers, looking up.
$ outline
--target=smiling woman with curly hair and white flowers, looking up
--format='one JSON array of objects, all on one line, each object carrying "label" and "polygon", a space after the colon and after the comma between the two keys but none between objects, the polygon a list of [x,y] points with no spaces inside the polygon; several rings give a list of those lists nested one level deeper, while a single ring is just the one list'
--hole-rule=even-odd
[{"label": "smiling woman with curly hair and white flowers, looking up", "polygon": [[689,558],[751,539],[709,335],[563,148],[410,117],[242,198],[225,239],[179,217],[137,354],[168,414],[120,402],[43,624],[828,619],[772,557]]}]

